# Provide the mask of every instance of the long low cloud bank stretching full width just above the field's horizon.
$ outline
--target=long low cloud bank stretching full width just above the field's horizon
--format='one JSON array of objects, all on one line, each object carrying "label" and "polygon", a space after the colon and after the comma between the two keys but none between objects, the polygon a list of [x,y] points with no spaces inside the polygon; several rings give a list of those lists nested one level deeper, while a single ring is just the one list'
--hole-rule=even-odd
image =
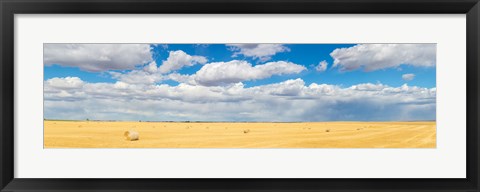
[{"label": "long low cloud bank stretching full width just above the field's horizon", "polygon": [[45,117],[59,119],[333,121],[435,120],[435,88],[404,84],[306,85],[302,79],[245,87],[180,83],[45,81]]}]

